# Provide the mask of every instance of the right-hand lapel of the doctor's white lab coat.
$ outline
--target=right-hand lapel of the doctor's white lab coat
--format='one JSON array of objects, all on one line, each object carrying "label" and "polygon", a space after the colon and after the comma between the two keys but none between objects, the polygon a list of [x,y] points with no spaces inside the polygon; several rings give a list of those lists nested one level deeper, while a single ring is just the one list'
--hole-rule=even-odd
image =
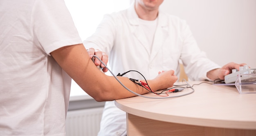
[{"label": "right-hand lapel of the doctor's white lab coat", "polygon": [[166,15],[162,14],[159,11],[158,14],[158,24],[157,29],[155,31],[155,36],[153,40],[153,47],[150,55],[150,61],[152,61],[155,56],[157,55],[157,52],[163,47],[164,42],[166,38],[168,37],[168,20],[167,17],[164,17]]}]

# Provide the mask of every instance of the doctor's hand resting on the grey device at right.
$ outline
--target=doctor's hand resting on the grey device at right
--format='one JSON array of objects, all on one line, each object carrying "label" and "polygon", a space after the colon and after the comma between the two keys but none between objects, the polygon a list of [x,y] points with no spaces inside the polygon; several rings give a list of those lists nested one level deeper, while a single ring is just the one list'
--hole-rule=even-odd
[{"label": "doctor's hand resting on the grey device at right", "polygon": [[224,77],[227,76],[228,74],[232,73],[232,69],[239,69],[240,66],[246,65],[245,63],[237,64],[234,62],[230,62],[226,65],[224,65],[220,69],[213,69],[209,72],[207,72],[207,77],[210,78],[211,80],[224,80]]}]

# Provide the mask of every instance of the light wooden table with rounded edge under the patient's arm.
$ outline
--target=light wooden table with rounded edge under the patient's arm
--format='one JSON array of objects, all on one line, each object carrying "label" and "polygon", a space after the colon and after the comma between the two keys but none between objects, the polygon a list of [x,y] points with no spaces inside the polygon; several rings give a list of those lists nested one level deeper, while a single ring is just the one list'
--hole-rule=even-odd
[{"label": "light wooden table with rounded edge under the patient's arm", "polygon": [[193,94],[176,98],[116,100],[115,105],[127,113],[128,136],[256,136],[256,94],[206,83],[193,88]]}]

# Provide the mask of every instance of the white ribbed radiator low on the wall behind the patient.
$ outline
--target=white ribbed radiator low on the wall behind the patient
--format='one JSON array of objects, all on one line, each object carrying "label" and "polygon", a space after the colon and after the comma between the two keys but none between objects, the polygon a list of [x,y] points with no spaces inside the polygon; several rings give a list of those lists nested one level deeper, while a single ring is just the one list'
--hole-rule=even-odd
[{"label": "white ribbed radiator low on the wall behind the patient", "polygon": [[97,136],[103,107],[67,111],[66,136]]}]

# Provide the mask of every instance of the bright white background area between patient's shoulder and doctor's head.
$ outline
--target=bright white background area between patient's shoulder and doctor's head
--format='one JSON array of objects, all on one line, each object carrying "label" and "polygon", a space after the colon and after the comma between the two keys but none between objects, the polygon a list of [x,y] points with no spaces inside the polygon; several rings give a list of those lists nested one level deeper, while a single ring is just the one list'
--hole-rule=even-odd
[{"label": "bright white background area between patient's shoulder and doctor's head", "polygon": [[64,0],[82,40],[91,36],[103,15],[126,9],[130,0]]}]

